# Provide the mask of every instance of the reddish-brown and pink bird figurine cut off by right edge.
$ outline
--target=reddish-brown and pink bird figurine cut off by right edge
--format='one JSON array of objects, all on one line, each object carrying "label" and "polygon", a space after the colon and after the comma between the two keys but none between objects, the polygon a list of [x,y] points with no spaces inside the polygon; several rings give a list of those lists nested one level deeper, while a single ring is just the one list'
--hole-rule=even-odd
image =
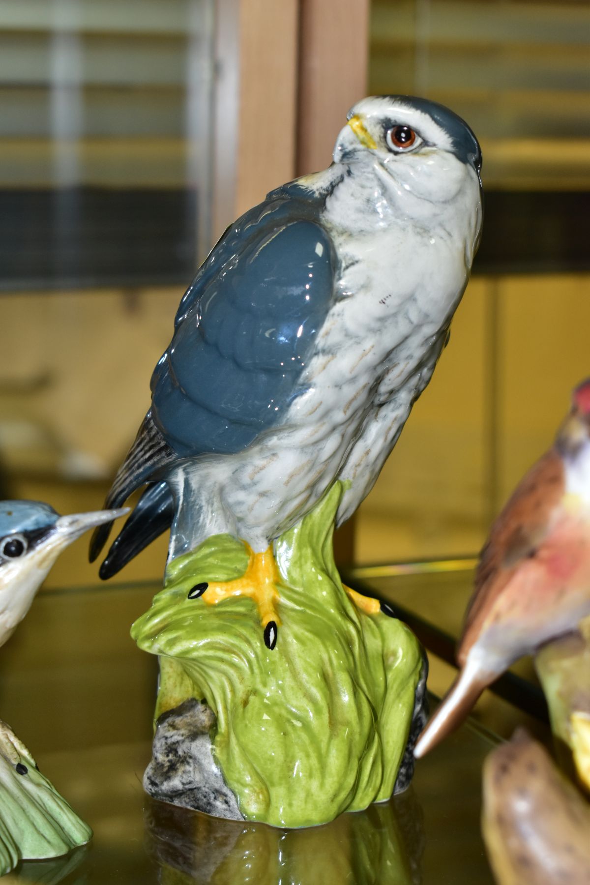
[{"label": "reddish-brown and pink bird figurine cut off by right edge", "polygon": [[590,380],[556,442],[494,522],[457,650],[460,673],[425,727],[418,758],[456,728],[517,658],[590,614]]}]

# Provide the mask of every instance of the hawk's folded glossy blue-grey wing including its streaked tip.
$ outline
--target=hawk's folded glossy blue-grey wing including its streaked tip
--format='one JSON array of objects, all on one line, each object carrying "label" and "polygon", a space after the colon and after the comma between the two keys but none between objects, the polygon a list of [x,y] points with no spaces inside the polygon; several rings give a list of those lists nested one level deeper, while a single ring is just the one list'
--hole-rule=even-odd
[{"label": "hawk's folded glossy blue-grey wing including its streaked tip", "polygon": [[[336,259],[318,206],[299,191],[280,189],[250,210],[197,273],[152,375],[151,409],[111,504],[178,458],[247,448],[300,392],[299,375],[331,304]],[[144,519],[149,514],[144,508]],[[109,530],[96,531],[91,558]]]}]

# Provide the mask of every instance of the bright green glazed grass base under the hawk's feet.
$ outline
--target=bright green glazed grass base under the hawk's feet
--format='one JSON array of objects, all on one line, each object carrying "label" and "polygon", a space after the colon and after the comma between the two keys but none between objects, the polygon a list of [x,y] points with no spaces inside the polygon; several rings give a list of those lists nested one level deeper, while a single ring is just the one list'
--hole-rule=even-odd
[{"label": "bright green glazed grass base under the hawk's feet", "polygon": [[273,650],[250,599],[188,598],[199,582],[244,573],[248,553],[228,535],[172,561],[132,629],[161,658],[156,715],[206,699],[214,758],[241,814],[276,827],[325,823],[390,797],[410,732],[422,652],[401,621],[359,611],[342,589],[332,551],[341,494],[336,483],[275,543]]}]

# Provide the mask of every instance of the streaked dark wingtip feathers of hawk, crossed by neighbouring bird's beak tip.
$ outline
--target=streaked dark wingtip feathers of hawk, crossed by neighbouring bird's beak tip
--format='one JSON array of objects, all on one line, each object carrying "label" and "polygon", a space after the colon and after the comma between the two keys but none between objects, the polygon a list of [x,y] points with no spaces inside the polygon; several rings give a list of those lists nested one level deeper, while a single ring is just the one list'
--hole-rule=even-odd
[{"label": "streaked dark wingtip feathers of hawk, crossed by neighbouring bird's beak tip", "polygon": [[[124,504],[135,489],[139,489],[161,467],[173,461],[175,457],[164,436],[159,432],[151,419],[151,412],[148,412],[143,419],[142,427],[140,427],[135,437],[134,444],[127,452],[125,461],[119,467],[115,481],[111,486],[111,491],[104,502],[105,510],[110,510],[111,507],[120,507],[121,504]],[[104,544],[111,534],[111,528],[112,523],[105,522],[94,530],[90,538],[88,553],[90,562],[94,562],[100,555]]]}]

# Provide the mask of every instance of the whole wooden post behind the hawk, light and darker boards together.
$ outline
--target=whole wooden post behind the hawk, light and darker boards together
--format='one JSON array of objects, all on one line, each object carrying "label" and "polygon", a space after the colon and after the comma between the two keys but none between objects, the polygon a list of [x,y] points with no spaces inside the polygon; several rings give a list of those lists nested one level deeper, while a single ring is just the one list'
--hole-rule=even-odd
[{"label": "whole wooden post behind the hawk, light and darker boards together", "polygon": [[[329,165],[365,95],[369,0],[217,0],[214,240],[266,193]],[[354,518],[334,536],[354,559]]]}]

